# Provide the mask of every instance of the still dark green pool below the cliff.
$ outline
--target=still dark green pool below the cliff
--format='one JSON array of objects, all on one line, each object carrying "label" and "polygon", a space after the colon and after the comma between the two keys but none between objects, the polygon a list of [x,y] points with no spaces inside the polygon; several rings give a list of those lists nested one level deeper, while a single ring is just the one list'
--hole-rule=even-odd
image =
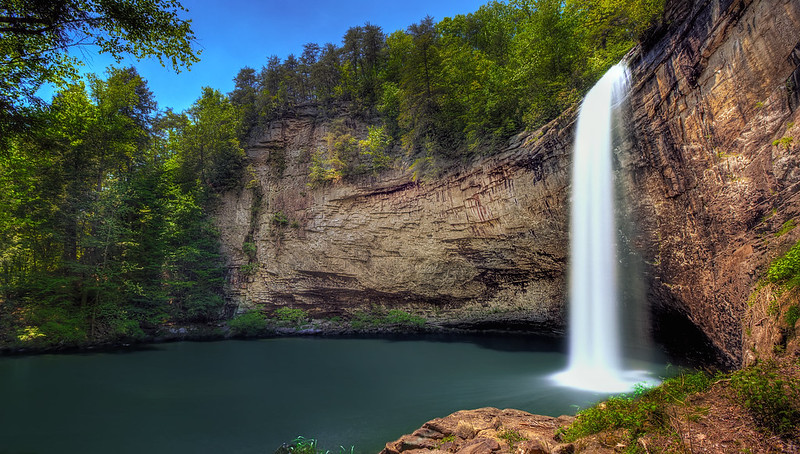
[{"label": "still dark green pool below the cliff", "polygon": [[[0,358],[0,453],[376,453],[461,409],[574,414],[550,340],[277,338]],[[652,366],[650,367],[653,370]],[[656,372],[658,374],[658,372]]]}]

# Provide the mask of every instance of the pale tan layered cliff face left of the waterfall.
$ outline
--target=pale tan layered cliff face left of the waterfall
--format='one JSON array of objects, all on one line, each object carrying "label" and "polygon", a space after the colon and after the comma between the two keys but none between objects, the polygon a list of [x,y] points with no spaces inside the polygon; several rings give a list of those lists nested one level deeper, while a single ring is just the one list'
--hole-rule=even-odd
[{"label": "pale tan layered cliff face left of the waterfall", "polygon": [[[224,198],[218,222],[240,310],[336,316],[380,305],[563,331],[568,124],[521,134],[435,182],[396,170],[311,188],[310,155],[329,128],[313,112],[273,124],[248,150],[249,188]],[[256,246],[250,274],[245,242]]]}]

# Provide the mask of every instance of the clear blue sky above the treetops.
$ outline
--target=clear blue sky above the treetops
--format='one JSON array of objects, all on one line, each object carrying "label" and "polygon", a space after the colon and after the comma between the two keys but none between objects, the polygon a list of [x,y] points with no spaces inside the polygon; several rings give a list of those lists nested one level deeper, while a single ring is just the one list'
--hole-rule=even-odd
[{"label": "clear blue sky above the treetops", "polygon": [[[228,93],[244,66],[260,69],[270,55],[300,55],[303,44],[341,45],[348,28],[369,22],[384,33],[405,29],[426,15],[436,21],[480,8],[488,0],[181,0],[192,20],[201,61],[180,74],[157,60],[126,59],[148,81],[158,105],[175,111],[188,108],[203,86]],[[113,60],[83,49],[85,72],[103,74]]]}]

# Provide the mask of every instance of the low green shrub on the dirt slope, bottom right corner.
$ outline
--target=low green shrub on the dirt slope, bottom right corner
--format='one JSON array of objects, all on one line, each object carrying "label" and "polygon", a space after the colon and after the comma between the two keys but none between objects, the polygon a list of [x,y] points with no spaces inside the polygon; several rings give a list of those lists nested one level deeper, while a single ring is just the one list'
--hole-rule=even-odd
[{"label": "low green shrub on the dirt slope, bottom right corner", "polygon": [[761,363],[731,376],[736,398],[756,423],[776,435],[796,433],[800,425],[800,380],[781,378],[774,362]]}]

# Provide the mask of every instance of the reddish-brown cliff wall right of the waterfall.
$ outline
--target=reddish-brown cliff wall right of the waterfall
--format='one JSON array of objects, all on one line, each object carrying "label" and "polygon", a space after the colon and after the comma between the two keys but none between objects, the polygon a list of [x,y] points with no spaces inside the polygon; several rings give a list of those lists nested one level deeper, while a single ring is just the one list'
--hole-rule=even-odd
[{"label": "reddish-brown cliff wall right of the waterfall", "polygon": [[800,2],[669,8],[671,30],[632,61],[621,180],[635,194],[648,299],[736,364],[748,295],[800,237],[781,234],[800,214]]}]

